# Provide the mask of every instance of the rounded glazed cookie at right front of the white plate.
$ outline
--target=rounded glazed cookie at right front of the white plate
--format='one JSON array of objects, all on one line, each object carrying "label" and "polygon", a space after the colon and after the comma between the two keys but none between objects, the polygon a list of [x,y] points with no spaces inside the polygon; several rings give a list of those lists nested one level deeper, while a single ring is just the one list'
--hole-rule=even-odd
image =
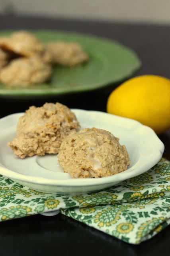
[{"label": "rounded glazed cookie at right front of the white plate", "polygon": [[72,178],[100,178],[123,172],[130,164],[126,147],[110,132],[86,128],[67,136],[58,154],[59,164]]}]

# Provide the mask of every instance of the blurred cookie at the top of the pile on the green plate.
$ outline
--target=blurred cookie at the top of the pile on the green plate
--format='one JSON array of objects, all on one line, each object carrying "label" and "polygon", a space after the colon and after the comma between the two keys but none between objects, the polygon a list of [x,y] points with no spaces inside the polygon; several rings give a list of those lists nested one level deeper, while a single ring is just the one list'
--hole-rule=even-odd
[{"label": "blurred cookie at the top of the pile on the green plate", "polygon": [[42,56],[45,50],[38,38],[24,30],[14,32],[9,37],[1,37],[0,47],[25,57]]}]

